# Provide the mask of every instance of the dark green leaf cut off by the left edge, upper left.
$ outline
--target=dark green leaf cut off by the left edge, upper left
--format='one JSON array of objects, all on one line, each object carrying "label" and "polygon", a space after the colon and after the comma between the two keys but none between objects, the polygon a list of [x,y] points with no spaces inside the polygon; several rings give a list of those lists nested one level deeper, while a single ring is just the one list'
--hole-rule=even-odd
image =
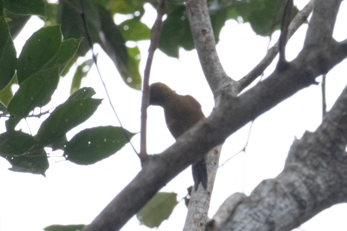
[{"label": "dark green leaf cut off by the left edge, upper left", "polygon": [[11,81],[17,62],[17,52],[5,18],[0,16],[0,90]]}]

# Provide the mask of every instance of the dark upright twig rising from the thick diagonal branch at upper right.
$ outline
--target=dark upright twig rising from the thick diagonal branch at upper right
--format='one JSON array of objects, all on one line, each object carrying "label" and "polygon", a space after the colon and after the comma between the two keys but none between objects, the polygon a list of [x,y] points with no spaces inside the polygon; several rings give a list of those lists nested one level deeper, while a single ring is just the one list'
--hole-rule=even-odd
[{"label": "dark upright twig rising from the thick diagonal branch at upper right", "polygon": [[283,11],[282,23],[281,23],[281,35],[279,38],[279,53],[280,57],[278,64],[286,63],[286,44],[288,36],[288,27],[290,24],[291,9],[293,8],[293,0],[287,0],[286,7]]}]

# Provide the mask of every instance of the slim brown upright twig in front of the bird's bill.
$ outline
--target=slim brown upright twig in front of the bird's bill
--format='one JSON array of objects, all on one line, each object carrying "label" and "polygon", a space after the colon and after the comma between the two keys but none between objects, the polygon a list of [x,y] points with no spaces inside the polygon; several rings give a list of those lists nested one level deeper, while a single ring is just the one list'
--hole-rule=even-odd
[{"label": "slim brown upright twig in front of the bird's bill", "polygon": [[162,17],[165,13],[165,1],[161,0],[158,6],[158,15],[155,19],[151,30],[151,44],[148,48],[148,58],[146,62],[144,77],[143,77],[143,91],[142,91],[142,104],[141,104],[141,134],[140,134],[140,159],[143,160],[147,156],[146,147],[146,133],[147,133],[147,107],[149,105],[149,78],[151,73],[151,66],[153,62],[154,52],[159,45],[159,38],[162,27]]}]

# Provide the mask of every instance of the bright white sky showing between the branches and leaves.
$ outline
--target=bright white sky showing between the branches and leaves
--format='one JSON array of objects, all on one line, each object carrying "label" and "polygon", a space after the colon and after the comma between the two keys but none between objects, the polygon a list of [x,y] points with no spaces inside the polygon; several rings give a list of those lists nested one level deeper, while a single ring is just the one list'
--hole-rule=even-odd
[{"label": "bright white sky showing between the branches and leaves", "polygon": [[[295,1],[301,9],[305,1]],[[143,21],[151,26],[156,13],[149,5],[145,5],[146,14]],[[334,32],[334,37],[341,41],[347,38],[346,14],[347,4],[342,1],[341,10]],[[117,20],[117,18],[116,18]],[[23,32],[15,41],[19,54],[27,38],[39,29],[43,23],[37,17],[32,17]],[[296,57],[302,48],[307,25],[299,28],[290,39],[286,54],[287,60]],[[276,41],[279,32],[275,32]],[[228,20],[220,34],[217,51],[227,74],[238,80],[248,73],[265,55],[269,38],[255,35],[250,25],[238,24]],[[138,42],[141,50],[140,73],[143,73],[147,57],[149,41]],[[139,131],[141,92],[130,89],[119,77],[112,61],[99,46],[98,65],[101,75],[109,89],[111,100],[125,128],[132,132]],[[89,56],[88,56],[89,55]],[[87,59],[90,58],[88,53]],[[78,60],[82,63],[84,60]],[[276,61],[265,71],[269,75]],[[342,89],[347,84],[347,61],[337,65],[327,77],[327,105],[331,108]],[[77,65],[74,65],[69,75],[62,78],[48,109],[64,102],[69,96],[69,86]],[[321,78],[318,78],[320,81]],[[213,107],[213,97],[201,70],[196,51],[180,49],[180,58],[167,57],[156,51],[150,82],[164,82],[178,94],[194,96],[208,116]],[[93,87],[97,94],[95,98],[105,98],[95,66],[82,86]],[[148,152],[160,153],[174,143],[164,121],[163,110],[151,106],[148,109]],[[29,126],[33,133],[39,128],[39,119],[31,119]],[[4,118],[0,118],[0,130],[5,131]],[[321,87],[311,86],[299,91],[293,97],[283,101],[269,112],[264,113],[253,124],[249,145],[246,153],[240,153],[231,159],[218,171],[213,190],[209,216],[217,211],[219,205],[232,193],[244,192],[247,195],[263,179],[276,177],[283,169],[290,145],[294,137],[300,138],[304,131],[314,131],[321,122]],[[68,133],[68,139],[79,130],[86,127],[116,125],[107,100],[96,113],[82,125]],[[19,126],[27,130],[26,123]],[[18,127],[19,128],[19,127]],[[246,142],[249,125],[246,125],[231,135],[223,146],[220,163],[241,150]],[[132,143],[137,147],[139,134],[134,136]],[[51,153],[59,156],[61,152]],[[78,166],[69,161],[54,162],[60,158],[49,160],[50,168],[46,178],[41,175],[12,172],[7,170],[10,164],[0,158],[0,230],[1,231],[39,231],[51,224],[88,224],[115,197],[140,170],[139,160],[126,145],[121,151],[108,159],[90,166]],[[178,200],[186,195],[186,188],[193,184],[190,167],[183,171],[162,189],[164,192],[178,193]],[[181,230],[185,221],[186,207],[181,201],[175,208],[169,220],[162,223],[159,231]],[[301,226],[306,231],[346,230],[345,214],[347,205],[340,204],[323,211]],[[149,230],[144,225],[139,226],[135,217],[122,229]]]}]

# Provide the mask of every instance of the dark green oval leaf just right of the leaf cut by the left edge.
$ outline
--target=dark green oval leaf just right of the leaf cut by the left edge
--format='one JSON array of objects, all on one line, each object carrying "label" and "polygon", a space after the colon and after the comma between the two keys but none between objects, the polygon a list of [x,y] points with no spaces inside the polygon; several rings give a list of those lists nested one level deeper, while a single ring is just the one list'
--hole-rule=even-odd
[{"label": "dark green oval leaf just right of the leaf cut by the left edge", "polygon": [[41,70],[56,55],[61,45],[60,26],[37,30],[24,44],[17,62],[19,85],[26,78]]}]

